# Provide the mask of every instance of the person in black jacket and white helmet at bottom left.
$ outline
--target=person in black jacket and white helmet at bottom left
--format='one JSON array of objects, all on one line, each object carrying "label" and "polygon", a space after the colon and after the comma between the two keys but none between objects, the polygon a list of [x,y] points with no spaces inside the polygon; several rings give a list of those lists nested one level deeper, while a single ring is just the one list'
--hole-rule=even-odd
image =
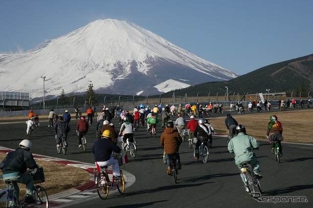
[{"label": "person in black jacket and white helmet at bottom left", "polygon": [[[26,185],[26,199],[27,203],[34,203],[35,200],[35,190],[33,189],[34,180],[29,174],[25,174],[27,168],[34,169],[39,167],[33,155],[29,152],[32,144],[29,140],[24,139],[19,144],[19,148],[15,151],[9,152],[7,156],[3,159],[0,164],[0,169],[2,170],[2,178],[5,182],[6,180],[14,181],[13,187],[16,190],[16,196],[19,198],[20,188],[17,183]],[[6,185],[7,188],[9,188]]]}]

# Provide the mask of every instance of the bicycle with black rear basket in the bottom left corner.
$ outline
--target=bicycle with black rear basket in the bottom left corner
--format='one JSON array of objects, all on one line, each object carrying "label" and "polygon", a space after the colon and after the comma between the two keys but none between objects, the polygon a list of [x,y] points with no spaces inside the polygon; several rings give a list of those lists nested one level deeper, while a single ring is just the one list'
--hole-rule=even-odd
[{"label": "bicycle with black rear basket in the bottom left corner", "polygon": [[[37,168],[34,170],[29,170],[28,173],[33,176],[34,184],[44,183],[45,182],[45,175],[43,168]],[[33,188],[35,190],[35,199],[36,202],[28,203],[25,202],[26,197],[22,198],[19,201],[16,195],[16,190],[14,189],[13,184],[16,183],[12,180],[6,180],[4,182],[8,187],[6,189],[0,190],[0,207],[1,208],[26,208],[27,205],[31,205],[33,208],[34,206],[40,207],[49,207],[49,200],[48,195],[45,191],[45,188],[40,185],[34,185]]]}]

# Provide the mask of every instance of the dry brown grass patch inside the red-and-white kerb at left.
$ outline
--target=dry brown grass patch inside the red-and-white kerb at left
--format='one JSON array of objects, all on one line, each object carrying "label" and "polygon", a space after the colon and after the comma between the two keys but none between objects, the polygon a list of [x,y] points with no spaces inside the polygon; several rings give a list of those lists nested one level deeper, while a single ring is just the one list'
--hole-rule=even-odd
[{"label": "dry brown grass patch inside the red-and-white kerb at left", "polygon": [[[5,153],[0,152],[0,161],[6,156]],[[89,181],[89,173],[79,167],[67,166],[54,162],[47,162],[35,159],[39,166],[44,168],[45,183],[41,185],[45,188],[48,195],[59,193],[73,187],[83,185]],[[2,172],[0,172],[2,175]],[[25,196],[25,186],[19,184],[21,198]],[[4,183],[0,181],[0,188],[5,188]]]}]

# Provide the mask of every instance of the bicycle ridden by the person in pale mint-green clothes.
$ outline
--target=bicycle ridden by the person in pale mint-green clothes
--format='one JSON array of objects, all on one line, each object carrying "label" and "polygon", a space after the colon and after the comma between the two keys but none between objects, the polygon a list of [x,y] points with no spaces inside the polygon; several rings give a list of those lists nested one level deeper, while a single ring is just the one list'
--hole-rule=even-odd
[{"label": "bicycle ridden by the person in pale mint-green clothes", "polygon": [[252,197],[255,196],[254,187],[258,187],[260,190],[260,193],[262,194],[262,187],[261,187],[260,181],[259,181],[259,179],[255,178],[255,175],[253,173],[253,169],[252,169],[250,162],[245,161],[245,162],[242,162],[241,165],[242,165],[241,172],[244,175],[245,183],[246,183],[245,187],[248,188],[251,196]]}]

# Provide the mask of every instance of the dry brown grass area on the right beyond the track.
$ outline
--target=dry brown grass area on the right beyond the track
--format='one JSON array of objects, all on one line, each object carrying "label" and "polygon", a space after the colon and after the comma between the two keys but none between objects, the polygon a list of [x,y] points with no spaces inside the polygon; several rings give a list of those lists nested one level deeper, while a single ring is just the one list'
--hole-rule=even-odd
[{"label": "dry brown grass area on the right beyond the track", "polygon": [[[248,113],[234,115],[238,124],[246,127],[247,134],[259,140],[267,140],[266,132],[271,115],[276,115],[283,126],[284,142],[312,143],[312,118],[313,110],[292,110],[274,113]],[[214,115],[213,115],[214,116]],[[209,120],[210,124],[218,129],[218,132],[226,133],[225,117],[217,117]]]}]

